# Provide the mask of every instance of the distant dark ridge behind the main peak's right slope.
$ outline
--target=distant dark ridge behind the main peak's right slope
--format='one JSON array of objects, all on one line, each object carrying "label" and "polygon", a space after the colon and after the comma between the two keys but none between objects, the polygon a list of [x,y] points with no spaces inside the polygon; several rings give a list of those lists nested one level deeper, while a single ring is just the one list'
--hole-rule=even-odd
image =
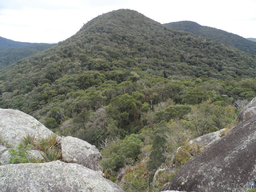
[{"label": "distant dark ridge behind the main peak's right slope", "polygon": [[164,25],[178,30],[188,31],[193,34],[202,35],[204,37],[210,37],[244,52],[256,54],[256,42],[252,42],[246,38],[226,32],[224,30],[208,26],[201,26],[200,24],[192,21],[171,22]]}]

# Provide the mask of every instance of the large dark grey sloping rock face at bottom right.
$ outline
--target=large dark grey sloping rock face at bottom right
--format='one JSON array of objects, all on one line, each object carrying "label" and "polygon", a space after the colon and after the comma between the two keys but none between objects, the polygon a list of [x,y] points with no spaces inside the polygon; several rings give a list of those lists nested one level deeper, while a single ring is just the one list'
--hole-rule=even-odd
[{"label": "large dark grey sloping rock face at bottom right", "polygon": [[[220,183],[247,184],[256,174],[256,115],[189,160],[162,190],[218,191]],[[222,189],[222,192],[230,189]]]}]

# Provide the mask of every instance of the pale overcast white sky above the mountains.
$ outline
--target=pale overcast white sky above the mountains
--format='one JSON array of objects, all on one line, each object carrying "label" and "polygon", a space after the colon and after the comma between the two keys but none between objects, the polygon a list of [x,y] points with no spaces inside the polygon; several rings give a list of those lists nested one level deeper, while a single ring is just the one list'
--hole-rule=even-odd
[{"label": "pale overcast white sky above the mountains", "polygon": [[136,10],[162,24],[188,20],[256,38],[256,0],[0,0],[0,36],[60,42],[96,16],[118,9]]}]

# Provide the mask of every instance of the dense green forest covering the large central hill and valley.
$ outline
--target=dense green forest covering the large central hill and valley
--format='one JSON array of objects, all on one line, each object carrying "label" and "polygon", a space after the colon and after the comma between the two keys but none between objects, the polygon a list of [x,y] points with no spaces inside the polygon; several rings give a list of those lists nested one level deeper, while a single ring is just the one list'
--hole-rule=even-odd
[{"label": "dense green forest covering the large central hill and valley", "polygon": [[2,69],[0,108],[96,145],[104,175],[125,191],[159,191],[173,175],[153,182],[154,172],[179,146],[236,124],[236,101],[256,96],[255,67],[253,54],[116,10]]}]

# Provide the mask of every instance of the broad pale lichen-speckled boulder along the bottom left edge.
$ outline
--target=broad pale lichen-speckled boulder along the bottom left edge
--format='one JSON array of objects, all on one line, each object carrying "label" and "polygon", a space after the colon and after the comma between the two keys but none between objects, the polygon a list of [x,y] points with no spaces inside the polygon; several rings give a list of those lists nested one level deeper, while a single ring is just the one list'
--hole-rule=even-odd
[{"label": "broad pale lichen-speckled boulder along the bottom left edge", "polygon": [[2,192],[123,192],[98,172],[61,161],[0,166],[0,189]]}]

